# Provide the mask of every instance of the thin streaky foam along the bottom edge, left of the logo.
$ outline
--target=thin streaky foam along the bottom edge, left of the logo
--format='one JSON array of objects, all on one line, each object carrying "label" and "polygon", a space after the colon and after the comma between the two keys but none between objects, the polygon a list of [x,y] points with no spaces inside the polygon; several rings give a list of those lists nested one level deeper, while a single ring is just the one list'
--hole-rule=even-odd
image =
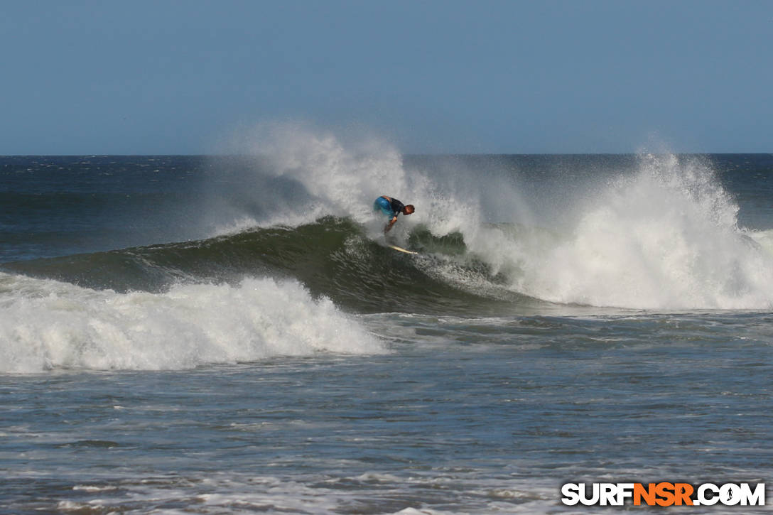
[{"label": "thin streaky foam along the bottom edge, left of the logo", "polygon": [[[415,471],[414,471],[415,472]],[[155,476],[124,479],[120,488],[98,485],[76,489],[78,500],[64,500],[60,510],[116,510],[128,499],[147,510],[162,504],[179,506],[164,513],[347,513],[352,509],[394,515],[458,515],[459,513],[546,513],[556,503],[556,488],[545,481],[447,476],[442,472],[394,476],[366,473],[290,477],[220,473],[206,477]],[[445,492],[443,496],[441,493]],[[90,498],[92,496],[97,496]],[[425,499],[422,499],[422,497]],[[167,503],[172,500],[174,502]],[[438,506],[439,505],[439,506]],[[397,506],[406,506],[397,510]],[[414,507],[415,506],[415,507]],[[395,511],[397,510],[397,511]]]}]

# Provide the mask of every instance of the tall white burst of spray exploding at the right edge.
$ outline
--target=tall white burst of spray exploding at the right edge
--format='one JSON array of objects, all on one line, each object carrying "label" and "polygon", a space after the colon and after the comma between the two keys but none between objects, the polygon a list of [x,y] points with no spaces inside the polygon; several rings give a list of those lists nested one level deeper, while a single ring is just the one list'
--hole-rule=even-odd
[{"label": "tall white burst of spray exploding at the right edge", "polygon": [[534,251],[514,288],[633,309],[769,309],[773,258],[700,159],[642,155],[587,199],[568,237]]}]

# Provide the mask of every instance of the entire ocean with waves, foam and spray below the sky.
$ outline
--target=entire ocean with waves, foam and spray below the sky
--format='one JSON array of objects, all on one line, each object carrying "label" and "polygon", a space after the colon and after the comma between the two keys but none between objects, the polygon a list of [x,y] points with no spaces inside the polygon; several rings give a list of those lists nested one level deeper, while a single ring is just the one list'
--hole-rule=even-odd
[{"label": "entire ocean with waves, foam and spray below the sky", "polygon": [[0,513],[771,483],[773,155],[240,150],[0,158]]}]

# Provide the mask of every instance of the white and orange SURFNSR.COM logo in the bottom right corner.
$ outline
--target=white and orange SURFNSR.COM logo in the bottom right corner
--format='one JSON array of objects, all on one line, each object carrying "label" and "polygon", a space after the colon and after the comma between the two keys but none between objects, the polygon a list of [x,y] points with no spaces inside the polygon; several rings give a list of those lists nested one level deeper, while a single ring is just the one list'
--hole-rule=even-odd
[{"label": "white and orange SURFNSR.COM logo in the bottom right corner", "polygon": [[724,483],[566,483],[561,502],[567,506],[764,506],[765,484]]}]

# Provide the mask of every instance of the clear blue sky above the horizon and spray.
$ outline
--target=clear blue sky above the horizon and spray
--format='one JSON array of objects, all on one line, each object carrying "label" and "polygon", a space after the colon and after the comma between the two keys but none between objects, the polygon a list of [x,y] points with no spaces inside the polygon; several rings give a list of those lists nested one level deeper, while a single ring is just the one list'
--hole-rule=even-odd
[{"label": "clear blue sky above the horizon and spray", "polygon": [[768,0],[5,0],[0,155],[203,154],[240,127],[402,152],[773,152]]}]

